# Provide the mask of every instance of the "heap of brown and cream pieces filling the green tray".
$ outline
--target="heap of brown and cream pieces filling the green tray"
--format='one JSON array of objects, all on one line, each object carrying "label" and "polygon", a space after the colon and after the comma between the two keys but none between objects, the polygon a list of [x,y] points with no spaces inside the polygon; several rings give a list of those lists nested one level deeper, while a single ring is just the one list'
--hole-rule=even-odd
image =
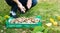
[{"label": "heap of brown and cream pieces filling the green tray", "polygon": [[30,17],[30,18],[26,18],[26,17],[21,17],[21,18],[16,18],[13,19],[12,21],[10,21],[11,23],[37,23],[39,22],[39,19]]}]

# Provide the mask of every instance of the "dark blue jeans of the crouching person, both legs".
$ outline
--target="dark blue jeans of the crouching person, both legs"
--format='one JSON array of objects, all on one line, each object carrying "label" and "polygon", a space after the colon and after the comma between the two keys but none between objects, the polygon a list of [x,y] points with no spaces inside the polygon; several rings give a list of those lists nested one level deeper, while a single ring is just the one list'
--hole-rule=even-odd
[{"label": "dark blue jeans of the crouching person, both legs", "polygon": [[[28,10],[28,8],[26,6],[27,5],[27,0],[19,0],[19,1],[26,8],[26,10]],[[10,5],[12,7],[11,11],[15,12],[15,11],[17,11],[17,9],[19,9],[17,4],[15,2],[13,2],[12,0],[6,0],[6,2],[7,2],[8,5]],[[35,6],[36,4],[37,4],[37,0],[32,0],[32,7]]]}]

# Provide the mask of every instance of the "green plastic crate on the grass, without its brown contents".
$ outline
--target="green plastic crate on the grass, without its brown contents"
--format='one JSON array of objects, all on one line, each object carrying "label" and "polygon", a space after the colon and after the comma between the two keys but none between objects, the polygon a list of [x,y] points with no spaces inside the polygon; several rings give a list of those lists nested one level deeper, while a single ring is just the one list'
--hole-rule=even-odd
[{"label": "green plastic crate on the grass, without its brown contents", "polygon": [[6,27],[7,28],[34,28],[36,26],[42,26],[42,22],[41,22],[41,16],[36,16],[36,18],[40,19],[40,22],[35,23],[35,24],[11,24],[9,21],[11,21],[12,17],[10,17],[7,21],[6,21]]}]

